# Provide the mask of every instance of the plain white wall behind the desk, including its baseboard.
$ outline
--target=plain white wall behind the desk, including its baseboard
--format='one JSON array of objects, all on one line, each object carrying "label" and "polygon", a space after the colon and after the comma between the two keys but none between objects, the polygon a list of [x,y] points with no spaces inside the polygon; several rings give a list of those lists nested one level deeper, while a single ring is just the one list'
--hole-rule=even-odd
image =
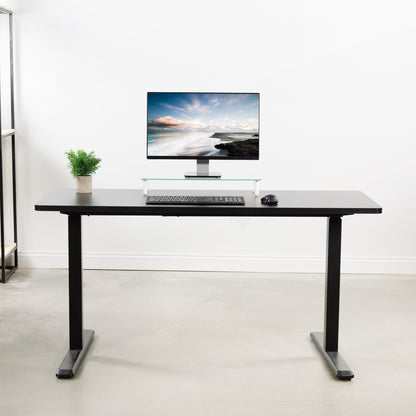
[{"label": "plain white wall behind the desk, including its baseboard", "polygon": [[[416,4],[409,1],[9,0],[15,12],[20,250],[66,266],[64,152],[95,150],[94,186],[138,188],[192,161],[145,158],[147,91],[261,93],[260,161],[212,162],[263,189],[358,189],[343,271],[416,274]],[[218,185],[220,186],[220,185]],[[92,217],[86,267],[323,271],[324,219]],[[232,237],[226,235],[230,233]],[[201,238],[203,236],[203,238]]]}]

